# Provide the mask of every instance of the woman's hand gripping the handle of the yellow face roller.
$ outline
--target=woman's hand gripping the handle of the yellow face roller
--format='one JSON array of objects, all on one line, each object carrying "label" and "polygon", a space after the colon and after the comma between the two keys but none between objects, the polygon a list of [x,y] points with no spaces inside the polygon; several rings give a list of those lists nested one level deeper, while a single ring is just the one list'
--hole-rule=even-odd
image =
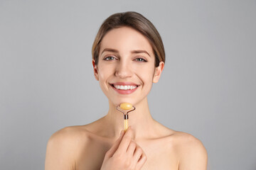
[{"label": "woman's hand gripping the handle of the yellow face roller", "polygon": [[146,154],[132,138],[134,132],[122,130],[119,138],[105,154],[100,170],[139,170],[146,162]]}]

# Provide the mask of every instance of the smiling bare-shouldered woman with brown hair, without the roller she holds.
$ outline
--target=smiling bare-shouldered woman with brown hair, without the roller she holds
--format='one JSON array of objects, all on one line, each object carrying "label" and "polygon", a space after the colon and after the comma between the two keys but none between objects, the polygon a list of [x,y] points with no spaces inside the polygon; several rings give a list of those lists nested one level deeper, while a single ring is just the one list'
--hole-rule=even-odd
[{"label": "smiling bare-shouldered woman with brown hair, without the roller she holds", "polygon": [[[156,28],[135,12],[115,13],[102,23],[92,46],[95,79],[109,99],[103,118],[63,128],[50,137],[46,170],[206,169],[202,143],[154,120],[146,96],[164,69],[164,45]],[[124,132],[120,103],[129,102]]]}]

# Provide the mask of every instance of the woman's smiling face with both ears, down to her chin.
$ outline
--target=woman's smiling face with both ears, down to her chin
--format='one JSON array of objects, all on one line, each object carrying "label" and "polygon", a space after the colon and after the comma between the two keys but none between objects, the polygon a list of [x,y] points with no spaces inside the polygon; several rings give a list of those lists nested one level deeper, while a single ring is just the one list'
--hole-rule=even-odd
[{"label": "woman's smiling face with both ears, down to her chin", "polygon": [[110,30],[100,45],[98,64],[92,61],[95,78],[114,104],[137,105],[159,80],[164,63],[154,67],[154,52],[149,41],[128,27]]}]

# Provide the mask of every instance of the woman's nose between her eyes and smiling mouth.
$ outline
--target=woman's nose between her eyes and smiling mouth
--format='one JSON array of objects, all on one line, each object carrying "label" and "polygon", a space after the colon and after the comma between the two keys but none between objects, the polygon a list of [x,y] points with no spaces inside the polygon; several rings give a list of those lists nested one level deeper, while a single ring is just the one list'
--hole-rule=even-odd
[{"label": "woman's nose between her eyes and smiling mouth", "polygon": [[131,66],[128,62],[120,61],[119,64],[117,64],[115,76],[125,79],[127,77],[132,77],[132,70]]}]

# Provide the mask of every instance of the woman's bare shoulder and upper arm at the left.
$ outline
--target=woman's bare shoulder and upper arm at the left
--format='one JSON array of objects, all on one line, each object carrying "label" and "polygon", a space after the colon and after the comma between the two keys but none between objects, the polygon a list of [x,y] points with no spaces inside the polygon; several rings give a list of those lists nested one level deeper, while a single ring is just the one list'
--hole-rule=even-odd
[{"label": "woman's bare shoulder and upper arm at the left", "polygon": [[80,126],[55,132],[48,140],[45,169],[75,169],[75,160],[87,139],[86,130]]}]

